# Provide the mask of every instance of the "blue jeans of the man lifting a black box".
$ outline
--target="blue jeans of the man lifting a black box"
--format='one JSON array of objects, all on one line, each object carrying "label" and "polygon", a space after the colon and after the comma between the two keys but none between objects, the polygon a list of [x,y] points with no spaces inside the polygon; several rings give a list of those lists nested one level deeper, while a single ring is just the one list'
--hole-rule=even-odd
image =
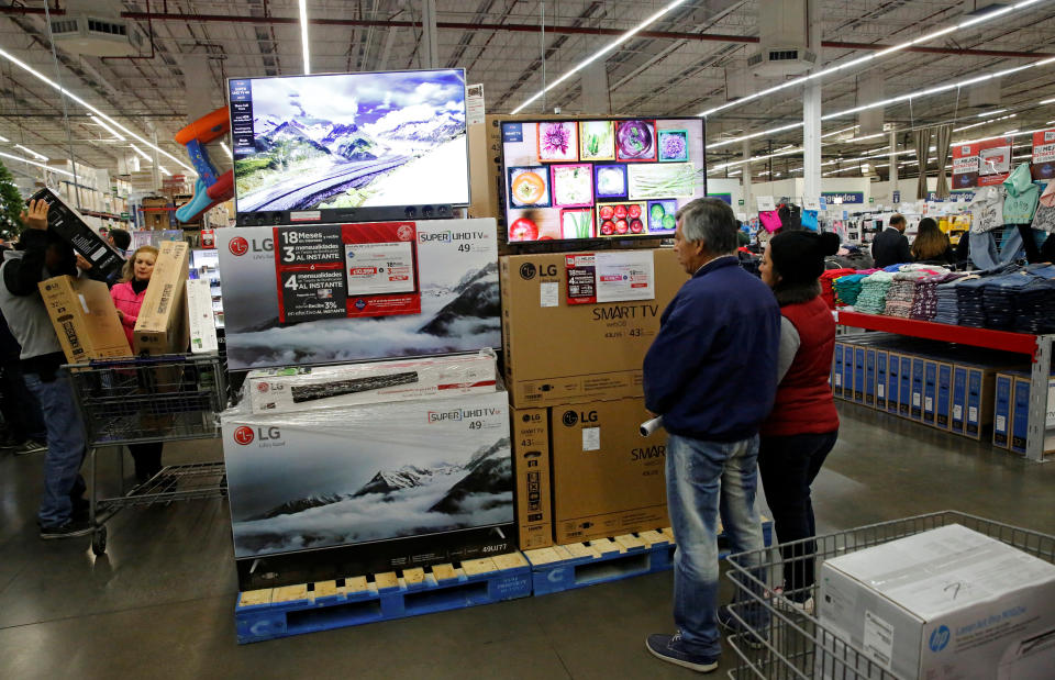
[{"label": "blue jeans of the man lifting a black box", "polygon": [[69,522],[73,499],[85,492],[80,464],[85,460],[85,432],[80,411],[65,370],[51,382],[37,374],[25,374],[25,386],[41,402],[47,427],[47,456],[44,460],[44,497],[38,513],[41,526],[60,526]]}]

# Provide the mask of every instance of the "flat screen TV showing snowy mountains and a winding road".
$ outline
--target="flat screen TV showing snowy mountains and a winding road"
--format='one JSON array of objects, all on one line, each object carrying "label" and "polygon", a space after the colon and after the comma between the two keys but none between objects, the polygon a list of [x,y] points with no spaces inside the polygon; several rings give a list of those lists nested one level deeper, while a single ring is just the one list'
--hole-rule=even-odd
[{"label": "flat screen TV showing snowy mountains and a winding road", "polygon": [[462,69],[229,80],[238,224],[452,216],[469,202]]}]

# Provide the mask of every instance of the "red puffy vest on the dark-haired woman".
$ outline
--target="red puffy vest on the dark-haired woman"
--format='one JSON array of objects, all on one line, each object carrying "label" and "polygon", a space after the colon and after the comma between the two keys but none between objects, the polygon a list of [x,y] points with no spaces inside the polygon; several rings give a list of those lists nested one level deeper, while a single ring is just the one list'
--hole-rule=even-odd
[{"label": "red puffy vest on the dark-haired woman", "polygon": [[828,376],[835,350],[835,320],[820,297],[786,304],[780,313],[799,333],[799,350],[777,386],[773,412],[762,425],[763,436],[822,434],[839,430],[839,413]]}]

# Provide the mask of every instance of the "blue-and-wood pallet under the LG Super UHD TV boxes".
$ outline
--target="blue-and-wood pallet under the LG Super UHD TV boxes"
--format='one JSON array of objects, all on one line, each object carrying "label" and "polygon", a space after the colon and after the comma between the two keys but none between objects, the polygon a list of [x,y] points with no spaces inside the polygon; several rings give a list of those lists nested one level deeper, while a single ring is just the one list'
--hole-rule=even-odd
[{"label": "blue-and-wood pallet under the LG Super UHD TV boxes", "polygon": [[531,594],[521,553],[240,593],[238,644],[489,604]]}]

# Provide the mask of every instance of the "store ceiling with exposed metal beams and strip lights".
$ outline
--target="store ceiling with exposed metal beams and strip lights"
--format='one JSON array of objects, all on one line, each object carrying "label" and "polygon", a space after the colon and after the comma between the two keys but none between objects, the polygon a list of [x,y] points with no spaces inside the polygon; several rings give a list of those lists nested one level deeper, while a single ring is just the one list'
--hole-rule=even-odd
[{"label": "store ceiling with exposed metal beams and strip lights", "polygon": [[[65,0],[52,1],[53,15],[62,15]],[[544,77],[552,81],[613,40],[612,32],[634,26],[666,3],[667,0],[436,0],[440,66],[466,68],[469,82],[484,83],[488,111],[509,112],[538,91]],[[957,23],[965,13],[991,3],[820,0],[820,4],[822,40],[843,45],[822,51],[822,62],[829,64],[868,52],[846,48],[847,43],[901,43]],[[726,69],[741,68],[756,49],[755,43],[745,41],[757,37],[757,12],[767,5],[771,7],[770,2],[762,0],[689,1],[648,26],[647,34],[635,36],[610,53],[606,68],[612,113],[696,114],[724,103]],[[310,27],[312,71],[424,66],[419,49],[421,7],[420,0],[308,0],[309,15],[330,22]],[[185,155],[182,148],[167,141],[186,123],[188,112],[224,103],[226,78],[301,71],[297,0],[151,0],[124,2],[123,8],[136,18],[144,35],[153,36],[153,47],[148,41],[144,56],[98,58],[71,54],[59,46],[60,66],[56,68],[40,2],[0,3],[0,48],[49,78],[60,78],[73,92],[142,136],[149,138],[152,127],[156,129],[162,146],[180,158]],[[544,34],[540,30],[543,16]],[[882,94],[889,98],[1043,58],[1031,55],[1055,55],[1055,1],[1042,0],[925,46],[943,52],[901,52],[877,59],[870,68],[848,69],[825,78],[824,111],[840,111],[867,101],[876,90],[876,80],[884,82]],[[992,56],[993,52],[1015,56]],[[748,91],[776,82],[779,81],[755,80]],[[570,78],[551,90],[544,103],[540,99],[525,112],[552,112],[555,107],[565,113],[581,112],[579,83],[579,78]],[[120,157],[133,153],[127,143],[112,140],[95,124],[84,109],[74,104],[64,112],[56,90],[12,67],[7,59],[0,59],[0,135],[11,144],[22,144],[49,158],[68,157],[71,145],[79,161],[111,170],[116,169]],[[188,101],[188,91],[193,101]],[[973,127],[955,134],[954,140],[1043,127],[1055,119],[1055,105],[1037,105],[1048,98],[1055,98],[1055,64],[1008,76],[1001,80],[999,108],[1010,110],[1002,115],[1015,113],[1015,118]],[[901,130],[954,120],[959,121],[956,126],[963,126],[985,120],[977,114],[991,108],[971,109],[968,104],[967,91],[958,97],[953,91],[889,107],[885,121]],[[713,143],[800,122],[801,109],[801,89],[789,88],[721,112],[709,120],[708,136]],[[70,121],[69,140],[64,114]],[[823,132],[856,122],[853,116],[828,121]],[[752,149],[754,154],[764,154],[769,148],[798,145],[801,141],[801,130],[793,130],[756,137]],[[833,143],[824,147],[825,159],[859,157],[886,144],[881,137],[863,143],[836,142],[834,137],[828,141]],[[1026,142],[1024,136],[1017,138],[1017,143]],[[1025,153],[1029,152],[1015,152]],[[714,165],[726,160],[726,155],[738,158],[740,154],[741,145],[731,144],[714,149],[709,160]],[[800,157],[782,156],[774,159],[773,172],[787,176],[801,165]],[[768,169],[768,165],[758,164],[754,174],[758,176]],[[901,174],[914,171],[914,167],[907,167]],[[840,176],[857,174],[854,170]],[[879,174],[886,171],[880,169]]]}]

